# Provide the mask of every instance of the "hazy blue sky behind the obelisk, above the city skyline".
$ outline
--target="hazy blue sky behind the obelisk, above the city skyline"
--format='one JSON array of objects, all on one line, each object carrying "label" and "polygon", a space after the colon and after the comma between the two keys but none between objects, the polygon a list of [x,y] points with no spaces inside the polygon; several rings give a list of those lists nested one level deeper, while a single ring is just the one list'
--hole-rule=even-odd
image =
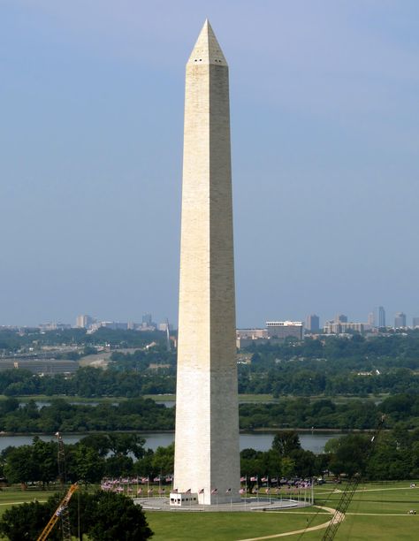
[{"label": "hazy blue sky behind the obelisk, above the city skyline", "polygon": [[176,321],[206,17],[230,65],[238,324],[419,316],[417,0],[0,0],[0,324]]}]

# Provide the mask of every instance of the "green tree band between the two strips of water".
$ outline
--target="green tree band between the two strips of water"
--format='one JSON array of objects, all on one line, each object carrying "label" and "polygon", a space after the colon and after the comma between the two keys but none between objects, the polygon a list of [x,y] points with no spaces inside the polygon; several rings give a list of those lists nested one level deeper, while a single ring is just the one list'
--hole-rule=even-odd
[{"label": "green tree band between the two strips of water", "polygon": [[[0,431],[6,432],[88,432],[88,431],[164,431],[174,429],[175,408],[142,398],[118,404],[70,404],[51,400],[38,408],[34,400],[19,405],[19,400],[0,401]],[[380,404],[373,400],[283,399],[275,404],[241,404],[240,429],[316,428],[371,430],[385,414],[386,425],[401,420],[408,428],[419,427],[419,395],[400,394]]]}]

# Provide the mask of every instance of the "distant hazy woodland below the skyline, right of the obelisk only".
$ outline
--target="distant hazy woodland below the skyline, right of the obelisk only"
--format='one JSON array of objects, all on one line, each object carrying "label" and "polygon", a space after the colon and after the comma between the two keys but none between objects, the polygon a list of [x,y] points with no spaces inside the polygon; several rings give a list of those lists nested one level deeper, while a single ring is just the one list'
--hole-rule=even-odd
[{"label": "distant hazy woodland below the skyline, right of the obelisk only", "polygon": [[294,394],[419,393],[419,332],[364,339],[287,339],[249,347],[239,367],[239,392]]}]

